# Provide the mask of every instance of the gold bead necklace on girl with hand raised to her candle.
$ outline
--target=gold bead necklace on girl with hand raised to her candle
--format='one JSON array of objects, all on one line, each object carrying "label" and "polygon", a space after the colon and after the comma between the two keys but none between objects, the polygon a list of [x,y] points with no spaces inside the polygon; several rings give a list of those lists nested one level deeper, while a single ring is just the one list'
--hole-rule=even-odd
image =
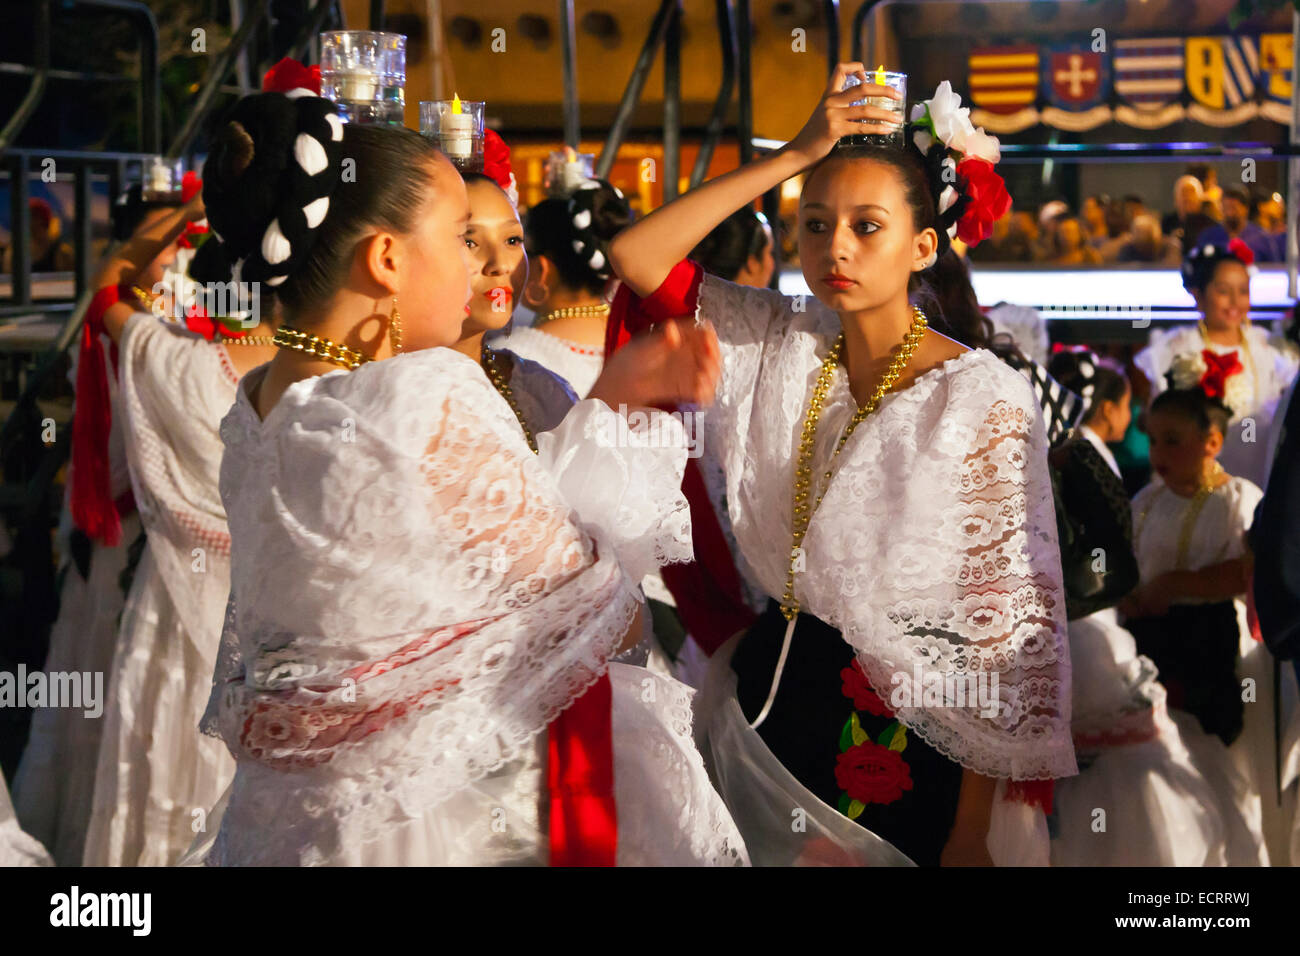
[{"label": "gold bead necklace on girl with hand raised to her candle", "polygon": [[926,334],[926,313],[919,308],[913,306],[911,308],[911,326],[907,329],[907,334],[904,336],[902,343],[898,346],[898,354],[894,356],[893,362],[889,363],[889,368],[876,385],[876,390],[872,393],[871,398],[866,405],[859,407],[853,419],[849,421],[848,428],[844,429],[844,434],[840,436],[840,441],[835,446],[835,451],[831,453],[831,460],[827,462],[826,475],[822,481],[822,493],[818,494],[812,506],[809,507],[809,493],[812,489],[812,450],[816,444],[816,425],[818,419],[822,418],[822,403],[826,401],[827,393],[831,390],[831,382],[835,378],[835,368],[840,364],[840,351],[844,349],[844,333],[841,332],[835,343],[831,346],[831,351],[827,352],[826,359],[822,362],[822,372],[818,375],[816,384],[812,386],[812,398],[809,401],[807,415],[803,419],[803,434],[800,438],[800,457],[798,464],[794,471],[794,510],[792,516],[792,544],[790,544],[790,570],[785,575],[785,594],[781,598],[781,614],[786,620],[794,620],[800,613],[798,601],[794,600],[794,570],[798,564],[798,558],[801,553],[801,545],[803,544],[803,535],[807,533],[809,522],[816,512],[818,507],[822,505],[822,498],[826,497],[827,488],[831,483],[831,468],[835,464],[836,457],[844,449],[849,441],[849,436],[858,424],[867,418],[871,412],[876,410],[880,405],[880,399],[885,397],[897,382],[898,377],[902,375],[902,369],[906,368],[907,362],[911,359],[913,352],[920,345],[920,339]]}]

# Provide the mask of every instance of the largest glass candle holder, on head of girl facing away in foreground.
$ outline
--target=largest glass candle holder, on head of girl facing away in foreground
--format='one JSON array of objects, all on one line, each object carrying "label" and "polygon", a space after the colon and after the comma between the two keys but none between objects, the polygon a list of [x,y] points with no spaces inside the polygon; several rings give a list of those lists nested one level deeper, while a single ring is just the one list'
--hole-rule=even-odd
[{"label": "largest glass candle holder, on head of girl facing away in foreground", "polygon": [[400,126],[406,108],[406,36],[374,30],[320,35],[321,96],[343,122]]}]

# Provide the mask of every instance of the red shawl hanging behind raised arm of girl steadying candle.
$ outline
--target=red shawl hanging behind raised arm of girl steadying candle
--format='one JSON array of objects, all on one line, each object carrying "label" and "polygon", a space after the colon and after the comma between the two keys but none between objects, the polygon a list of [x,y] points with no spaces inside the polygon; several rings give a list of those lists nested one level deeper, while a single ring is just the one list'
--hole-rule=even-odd
[{"label": "red shawl hanging behind raised arm of girl steadying candle", "polygon": [[[703,276],[698,263],[684,259],[644,299],[625,284],[620,285],[606,325],[606,360],[654,323],[693,315]],[[667,406],[666,411],[676,411],[676,406]],[[748,630],[757,615],[741,597],[740,572],[696,458],[686,460],[681,490],[690,505],[696,559],[685,564],[666,564],[660,574],[690,636],[705,653],[712,654],[733,633]]]}]

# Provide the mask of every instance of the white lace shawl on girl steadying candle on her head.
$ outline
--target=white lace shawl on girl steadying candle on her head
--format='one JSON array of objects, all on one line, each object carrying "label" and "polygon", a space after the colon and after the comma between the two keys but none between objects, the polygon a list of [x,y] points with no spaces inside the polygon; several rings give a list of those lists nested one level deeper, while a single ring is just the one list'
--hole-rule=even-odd
[{"label": "white lace shawl on girl steadying candle on her head", "polygon": [[[749,567],[780,597],[798,438],[838,317],[811,297],[712,276],[698,306],[723,347],[705,455],[722,462]],[[841,368],[818,429],[815,490],[855,407]],[[896,708],[931,745],[994,778],[1076,773],[1046,450],[1019,373],[987,351],[950,359],[887,395],[854,432],[803,540],[796,584],[803,610],[842,631],[885,696],[898,687],[922,700],[914,665],[997,674],[994,718],[974,706]]]}]

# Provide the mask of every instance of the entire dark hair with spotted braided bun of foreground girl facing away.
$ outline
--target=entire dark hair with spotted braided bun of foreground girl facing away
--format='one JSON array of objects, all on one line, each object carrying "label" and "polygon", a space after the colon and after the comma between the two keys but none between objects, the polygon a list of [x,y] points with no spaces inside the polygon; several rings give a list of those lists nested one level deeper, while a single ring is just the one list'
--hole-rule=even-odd
[{"label": "entire dark hair with spotted braided bun of foreground girl facing away", "polygon": [[318,96],[239,100],[203,166],[212,238],[200,282],[256,281],[291,317],[325,303],[368,228],[410,233],[434,185],[437,150],[419,133],[346,125]]}]

